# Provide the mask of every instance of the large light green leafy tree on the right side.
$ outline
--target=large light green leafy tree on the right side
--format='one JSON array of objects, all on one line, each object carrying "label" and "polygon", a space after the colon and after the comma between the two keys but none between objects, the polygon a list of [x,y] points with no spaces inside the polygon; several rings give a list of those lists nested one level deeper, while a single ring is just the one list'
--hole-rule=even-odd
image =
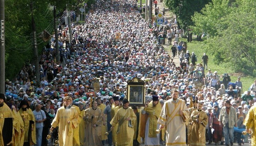
[{"label": "large light green leafy tree on the right side", "polygon": [[213,0],[192,17],[195,33],[205,33],[206,51],[216,63],[233,66],[234,71],[256,76],[256,3]]}]

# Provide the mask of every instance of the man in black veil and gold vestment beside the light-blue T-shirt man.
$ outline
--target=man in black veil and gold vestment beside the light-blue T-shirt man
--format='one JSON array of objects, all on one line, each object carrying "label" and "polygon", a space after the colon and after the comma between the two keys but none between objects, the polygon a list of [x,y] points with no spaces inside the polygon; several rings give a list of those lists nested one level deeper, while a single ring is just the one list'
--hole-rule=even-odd
[{"label": "man in black veil and gold vestment beside the light-blue T-shirt man", "polygon": [[24,144],[30,146],[36,144],[36,119],[27,101],[22,100],[19,107],[19,113],[24,123]]}]

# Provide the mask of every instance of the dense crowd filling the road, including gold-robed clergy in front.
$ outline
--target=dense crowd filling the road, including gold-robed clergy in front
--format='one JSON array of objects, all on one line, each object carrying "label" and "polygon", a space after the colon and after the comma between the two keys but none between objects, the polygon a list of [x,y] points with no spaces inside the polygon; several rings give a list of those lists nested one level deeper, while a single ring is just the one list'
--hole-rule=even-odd
[{"label": "dense crowd filling the road, including gold-robed clergy in front", "polygon": [[[72,24],[71,42],[68,27],[59,25],[60,62],[53,36],[39,61],[40,82],[29,63],[14,83],[6,79],[0,126],[14,130],[1,131],[0,145],[47,146],[58,140],[60,146],[193,146],[225,140],[232,146],[248,136],[253,141],[248,129],[255,128],[249,110],[254,111],[256,80],[243,93],[240,77],[233,83],[230,75],[207,70],[206,54],[203,65],[196,64],[194,52],[178,42],[177,26],[166,21],[150,28],[136,0],[97,0],[84,25]],[[172,57],[161,38],[170,45],[175,38]],[[145,82],[145,107],[129,107],[126,85],[133,77]]]}]

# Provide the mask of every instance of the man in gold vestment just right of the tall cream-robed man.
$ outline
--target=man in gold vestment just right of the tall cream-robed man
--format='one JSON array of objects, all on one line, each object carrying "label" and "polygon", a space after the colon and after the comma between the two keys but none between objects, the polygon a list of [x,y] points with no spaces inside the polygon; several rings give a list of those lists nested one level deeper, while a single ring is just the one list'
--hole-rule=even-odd
[{"label": "man in gold vestment just right of the tall cream-robed man", "polygon": [[202,110],[203,103],[198,103],[197,110],[191,114],[190,136],[188,137],[189,146],[205,146],[206,143],[206,125],[208,124],[208,116]]}]

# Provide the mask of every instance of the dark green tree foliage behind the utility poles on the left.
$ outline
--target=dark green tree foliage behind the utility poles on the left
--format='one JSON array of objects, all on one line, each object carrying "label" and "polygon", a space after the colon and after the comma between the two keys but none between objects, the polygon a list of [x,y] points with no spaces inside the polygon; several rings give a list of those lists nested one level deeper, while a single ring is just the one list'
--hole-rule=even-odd
[{"label": "dark green tree foliage behind the utility poles on the left", "polygon": [[[40,56],[43,47],[49,43],[43,42],[39,38],[39,33],[44,29],[50,34],[54,33],[53,6],[55,5],[59,12],[63,12],[66,6],[69,10],[79,11],[79,8],[85,2],[90,6],[94,0],[36,0],[32,2],[33,16],[36,23],[38,56]],[[28,60],[33,64],[30,3],[30,0],[5,1],[5,77],[7,79],[13,79],[22,66],[28,63]]]}]

